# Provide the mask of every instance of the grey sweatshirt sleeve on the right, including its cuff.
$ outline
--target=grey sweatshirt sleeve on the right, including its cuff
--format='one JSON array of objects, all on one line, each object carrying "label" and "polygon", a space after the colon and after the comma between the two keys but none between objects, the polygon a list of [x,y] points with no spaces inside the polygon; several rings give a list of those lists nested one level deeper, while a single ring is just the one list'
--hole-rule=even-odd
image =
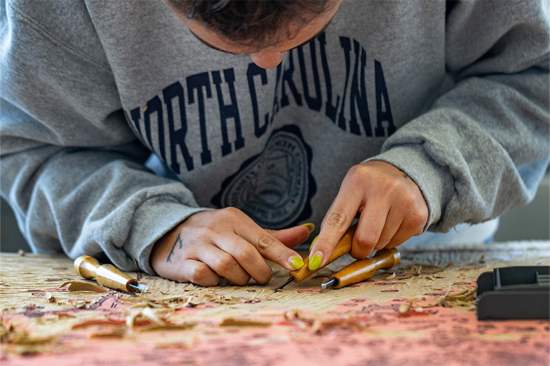
[{"label": "grey sweatshirt sleeve on the right, including its cuff", "polygon": [[529,202],[549,162],[549,3],[448,1],[453,87],[385,142],[419,185],[425,229],[483,222]]}]

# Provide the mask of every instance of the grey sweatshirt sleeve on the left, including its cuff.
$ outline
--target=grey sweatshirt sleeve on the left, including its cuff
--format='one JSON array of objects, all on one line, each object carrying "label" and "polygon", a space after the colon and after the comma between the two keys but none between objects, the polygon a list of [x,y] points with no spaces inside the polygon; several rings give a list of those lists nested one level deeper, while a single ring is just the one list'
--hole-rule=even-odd
[{"label": "grey sweatshirt sleeve on the left, including its cuff", "polygon": [[155,240],[201,209],[144,167],[150,152],[126,123],[84,5],[63,7],[88,34],[78,42],[35,23],[32,8],[0,5],[1,194],[23,236],[37,253],[104,253],[153,273]]}]

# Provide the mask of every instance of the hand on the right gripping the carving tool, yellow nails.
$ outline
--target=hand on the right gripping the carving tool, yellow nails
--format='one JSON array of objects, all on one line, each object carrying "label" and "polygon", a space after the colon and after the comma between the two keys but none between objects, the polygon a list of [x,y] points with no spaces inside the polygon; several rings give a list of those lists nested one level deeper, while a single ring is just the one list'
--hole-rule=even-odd
[{"label": "hand on the right gripping the carving tool, yellow nails", "polygon": [[327,264],[356,216],[359,222],[350,254],[364,259],[374,249],[394,248],[421,234],[428,205],[415,182],[395,166],[384,161],[354,165],[322,220],[309,251],[310,269]]}]

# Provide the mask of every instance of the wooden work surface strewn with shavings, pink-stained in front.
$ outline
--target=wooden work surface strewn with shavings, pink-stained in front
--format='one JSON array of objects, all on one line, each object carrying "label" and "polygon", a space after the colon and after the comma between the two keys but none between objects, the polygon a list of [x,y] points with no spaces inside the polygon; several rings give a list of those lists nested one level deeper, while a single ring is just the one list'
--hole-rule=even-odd
[{"label": "wooden work surface strewn with shavings, pink-stained in front", "polygon": [[349,255],[278,293],[271,288],[288,272],[275,264],[267,285],[203,288],[129,273],[153,288],[143,298],[59,288],[85,281],[61,255],[1,254],[0,360],[3,366],[549,364],[548,321],[477,321],[468,295],[477,276],[495,266],[549,264],[549,242],[399,249],[397,267],[323,291],[325,277],[353,262]]}]

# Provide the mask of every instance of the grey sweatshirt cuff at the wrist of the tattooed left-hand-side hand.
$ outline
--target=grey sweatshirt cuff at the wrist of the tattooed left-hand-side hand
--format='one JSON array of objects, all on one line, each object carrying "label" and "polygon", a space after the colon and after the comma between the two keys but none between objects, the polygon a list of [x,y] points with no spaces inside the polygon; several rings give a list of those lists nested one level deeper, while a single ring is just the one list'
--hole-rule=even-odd
[{"label": "grey sweatshirt cuff at the wrist of the tattooed left-hand-side hand", "polygon": [[150,198],[136,209],[133,229],[124,249],[137,260],[143,271],[156,275],[149,262],[155,242],[192,214],[208,210],[210,209],[205,207],[182,205],[175,200],[170,202],[166,200],[166,196]]}]

